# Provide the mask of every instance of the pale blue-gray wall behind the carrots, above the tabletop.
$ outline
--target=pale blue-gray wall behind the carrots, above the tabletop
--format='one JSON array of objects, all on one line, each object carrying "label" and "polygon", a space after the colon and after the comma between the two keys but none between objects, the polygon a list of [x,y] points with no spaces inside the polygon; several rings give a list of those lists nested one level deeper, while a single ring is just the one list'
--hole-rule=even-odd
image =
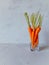
[{"label": "pale blue-gray wall behind the carrots, above the tabletop", "polygon": [[43,15],[40,43],[49,43],[49,0],[0,0],[0,43],[29,43],[24,12]]}]

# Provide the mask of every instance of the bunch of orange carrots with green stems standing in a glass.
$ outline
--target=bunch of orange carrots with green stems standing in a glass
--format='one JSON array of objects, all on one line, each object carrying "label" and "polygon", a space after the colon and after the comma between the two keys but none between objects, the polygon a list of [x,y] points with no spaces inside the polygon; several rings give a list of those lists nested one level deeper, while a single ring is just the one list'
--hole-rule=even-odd
[{"label": "bunch of orange carrots with green stems standing in a glass", "polygon": [[[29,20],[29,16],[27,12],[25,12],[25,17],[28,24],[28,32],[30,35],[31,46],[32,48],[35,48],[38,46],[38,42],[39,42],[38,34],[41,30],[42,16],[41,14],[39,14],[39,11],[38,11],[37,13],[33,13],[30,16],[30,20]],[[31,25],[30,25],[30,22],[31,22]]]}]

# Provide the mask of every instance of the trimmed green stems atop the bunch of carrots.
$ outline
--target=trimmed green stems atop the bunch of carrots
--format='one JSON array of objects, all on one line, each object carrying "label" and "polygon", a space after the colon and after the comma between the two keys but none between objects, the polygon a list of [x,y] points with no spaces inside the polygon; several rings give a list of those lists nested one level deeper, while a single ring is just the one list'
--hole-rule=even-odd
[{"label": "trimmed green stems atop the bunch of carrots", "polygon": [[[38,26],[42,26],[42,16],[39,13],[39,11],[37,13],[32,13],[30,16],[30,21],[29,21],[29,16],[27,14],[27,12],[25,12],[25,17],[28,23],[28,26],[32,26],[33,28],[37,28]],[[31,25],[30,25],[31,23]]]}]

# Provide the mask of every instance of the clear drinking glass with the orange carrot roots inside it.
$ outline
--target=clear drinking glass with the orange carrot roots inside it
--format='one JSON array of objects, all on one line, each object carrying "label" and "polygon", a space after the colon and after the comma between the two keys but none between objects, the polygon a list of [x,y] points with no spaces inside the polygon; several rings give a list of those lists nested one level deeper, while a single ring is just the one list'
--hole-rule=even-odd
[{"label": "clear drinking glass with the orange carrot roots inside it", "polygon": [[30,37],[30,49],[31,51],[39,50],[39,32],[41,28],[37,27],[36,29],[28,28],[29,37]]}]

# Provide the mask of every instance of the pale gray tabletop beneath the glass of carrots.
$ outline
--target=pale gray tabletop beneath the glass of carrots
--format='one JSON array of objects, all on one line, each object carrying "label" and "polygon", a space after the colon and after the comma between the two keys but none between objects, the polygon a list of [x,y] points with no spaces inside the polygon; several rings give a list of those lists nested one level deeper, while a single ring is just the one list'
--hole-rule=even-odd
[{"label": "pale gray tabletop beneath the glass of carrots", "polygon": [[0,65],[49,65],[49,47],[31,52],[29,44],[0,44]]}]

